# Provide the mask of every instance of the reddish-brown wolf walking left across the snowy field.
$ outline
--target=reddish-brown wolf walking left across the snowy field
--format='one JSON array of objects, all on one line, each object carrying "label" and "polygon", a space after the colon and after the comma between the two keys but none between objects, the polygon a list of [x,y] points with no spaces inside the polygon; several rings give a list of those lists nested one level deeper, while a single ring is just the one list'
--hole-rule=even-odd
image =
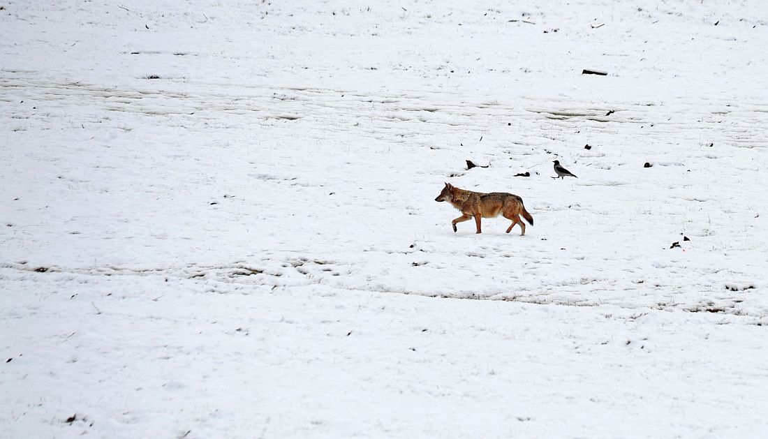
[{"label": "reddish-brown wolf walking left across the snowy field", "polygon": [[450,183],[445,183],[445,187],[442,188],[442,192],[435,198],[435,201],[448,201],[456,209],[462,211],[462,216],[451,221],[454,232],[456,231],[456,223],[468,221],[472,219],[472,216],[475,217],[476,233],[482,233],[480,229],[480,220],[482,218],[495,218],[499,214],[502,214],[506,219],[512,220],[507,233],[511,231],[515,224],[520,224],[522,229],[520,236],[525,236],[525,223],[520,219],[520,215],[533,226],[533,216],[525,210],[522,198],[512,193],[472,192],[471,190],[459,189],[458,187],[451,186]]}]

